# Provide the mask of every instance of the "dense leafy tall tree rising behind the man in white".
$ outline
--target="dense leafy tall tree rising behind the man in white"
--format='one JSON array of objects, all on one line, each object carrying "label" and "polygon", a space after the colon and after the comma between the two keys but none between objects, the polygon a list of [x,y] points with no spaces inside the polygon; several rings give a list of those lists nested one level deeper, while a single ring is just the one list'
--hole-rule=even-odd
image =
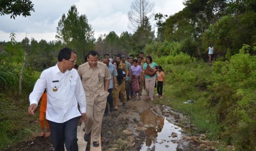
[{"label": "dense leafy tall tree rising behind the man in white", "polygon": [[86,15],[80,15],[73,5],[67,16],[62,15],[58,22],[56,38],[64,45],[75,49],[78,58],[83,60],[85,54],[94,46],[94,31],[88,24]]}]

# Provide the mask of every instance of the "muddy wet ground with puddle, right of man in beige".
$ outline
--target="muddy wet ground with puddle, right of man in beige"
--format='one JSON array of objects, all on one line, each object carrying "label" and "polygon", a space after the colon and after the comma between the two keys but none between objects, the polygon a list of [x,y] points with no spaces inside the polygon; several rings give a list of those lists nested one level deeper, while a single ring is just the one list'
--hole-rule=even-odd
[{"label": "muddy wet ground with puddle, right of man in beige", "polygon": [[[182,137],[181,127],[188,127],[189,123],[171,108],[145,100],[145,92],[142,98],[127,101],[126,107],[119,102],[118,111],[104,117],[102,150],[176,150]],[[181,120],[183,126],[178,125]],[[188,148],[184,144],[181,147]]]}]

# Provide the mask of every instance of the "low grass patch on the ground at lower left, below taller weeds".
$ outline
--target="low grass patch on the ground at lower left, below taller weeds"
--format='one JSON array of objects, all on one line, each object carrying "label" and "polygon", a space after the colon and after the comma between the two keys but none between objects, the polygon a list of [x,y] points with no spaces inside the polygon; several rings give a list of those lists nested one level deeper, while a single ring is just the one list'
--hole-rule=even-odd
[{"label": "low grass patch on the ground at lower left, below taller weeds", "polygon": [[16,101],[0,94],[0,150],[39,133],[39,112],[29,115],[28,106],[28,100]]}]

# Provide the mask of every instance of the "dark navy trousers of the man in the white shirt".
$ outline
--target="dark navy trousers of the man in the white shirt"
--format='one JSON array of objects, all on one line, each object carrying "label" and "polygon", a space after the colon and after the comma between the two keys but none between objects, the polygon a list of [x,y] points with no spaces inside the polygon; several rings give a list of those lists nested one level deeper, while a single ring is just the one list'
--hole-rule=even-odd
[{"label": "dark navy trousers of the man in the white shirt", "polygon": [[51,139],[53,148],[56,151],[64,151],[64,144],[66,149],[78,151],[77,144],[77,123],[78,117],[70,119],[64,123],[55,123],[48,121],[51,130]]}]

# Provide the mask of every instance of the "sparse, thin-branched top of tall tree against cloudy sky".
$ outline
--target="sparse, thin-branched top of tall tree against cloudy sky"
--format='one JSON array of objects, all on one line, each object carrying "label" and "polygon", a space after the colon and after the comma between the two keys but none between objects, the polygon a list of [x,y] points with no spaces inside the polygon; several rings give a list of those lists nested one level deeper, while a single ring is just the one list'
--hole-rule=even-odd
[{"label": "sparse, thin-branched top of tall tree against cloudy sky", "polygon": [[147,26],[146,20],[154,16],[152,13],[154,6],[155,3],[150,3],[149,0],[134,0],[128,12],[128,28],[137,31],[139,27]]}]

